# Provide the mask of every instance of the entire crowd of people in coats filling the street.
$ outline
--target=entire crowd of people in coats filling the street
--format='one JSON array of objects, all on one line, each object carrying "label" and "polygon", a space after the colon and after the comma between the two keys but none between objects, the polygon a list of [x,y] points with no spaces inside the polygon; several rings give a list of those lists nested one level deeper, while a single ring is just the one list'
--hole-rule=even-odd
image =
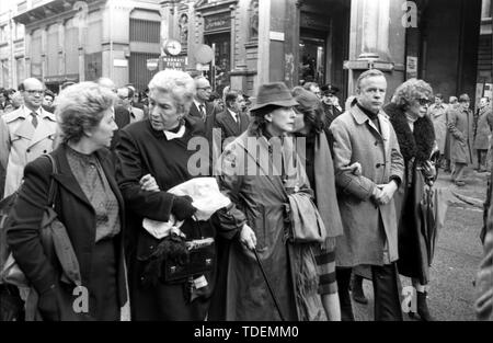
[{"label": "entire crowd of people in coats filling the street", "polygon": [[[410,79],[386,104],[376,69],[344,106],[337,93],[272,82],[251,102],[175,70],[142,93],[107,78],[59,94],[28,78],[0,92],[1,195],[15,197],[1,229],[30,285],[3,283],[1,297],[36,295],[9,318],[352,321],[352,299],[367,301],[370,279],[375,320],[403,320],[401,275],[416,290],[419,318],[434,320],[436,236],[422,201],[439,165],[465,184],[472,149],[486,171],[490,100],[473,115],[467,94],[444,104]],[[174,191],[202,179],[214,179],[229,205],[204,216],[197,198]],[[68,237],[65,254],[48,253],[39,230],[47,206],[61,222],[51,244]],[[81,285],[88,306],[74,311]],[[492,300],[482,296],[484,317]]]}]

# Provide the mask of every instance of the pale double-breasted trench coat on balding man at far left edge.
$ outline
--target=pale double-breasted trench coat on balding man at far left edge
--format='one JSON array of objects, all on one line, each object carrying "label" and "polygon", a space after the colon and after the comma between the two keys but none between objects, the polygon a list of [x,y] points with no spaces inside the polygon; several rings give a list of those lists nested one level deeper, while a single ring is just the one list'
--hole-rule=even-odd
[{"label": "pale double-breasted trench coat on balding man at far left edge", "polygon": [[24,167],[56,145],[57,123],[55,115],[41,108],[35,128],[28,110],[21,108],[0,117],[0,163],[5,169],[3,197],[14,193],[22,181]]}]

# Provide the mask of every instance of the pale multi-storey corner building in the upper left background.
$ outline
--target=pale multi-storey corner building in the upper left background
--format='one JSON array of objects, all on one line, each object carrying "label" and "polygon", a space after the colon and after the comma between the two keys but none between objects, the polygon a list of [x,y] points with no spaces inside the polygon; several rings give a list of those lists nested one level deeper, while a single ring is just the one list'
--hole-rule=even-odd
[{"label": "pale multi-storey corner building in the upper left background", "polygon": [[13,18],[25,26],[25,69],[54,91],[100,77],[144,90],[146,60],[160,55],[158,1],[24,0]]}]

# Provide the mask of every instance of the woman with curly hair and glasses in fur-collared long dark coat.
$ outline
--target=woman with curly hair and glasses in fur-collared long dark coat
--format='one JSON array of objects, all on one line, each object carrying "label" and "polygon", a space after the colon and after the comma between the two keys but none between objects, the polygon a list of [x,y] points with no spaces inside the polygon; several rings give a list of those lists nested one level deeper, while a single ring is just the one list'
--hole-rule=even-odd
[{"label": "woman with curly hair and glasses in fur-collared long dark coat", "polygon": [[[436,146],[433,122],[426,115],[432,87],[423,80],[410,79],[402,83],[385,107],[397,134],[404,158],[404,181],[394,196],[399,220],[399,261],[401,275],[412,278],[417,290],[417,313],[424,321],[433,320],[426,306],[431,255],[425,237],[420,202],[425,187],[436,179],[431,156]],[[429,261],[428,261],[429,260]],[[413,317],[413,315],[410,316]]]}]

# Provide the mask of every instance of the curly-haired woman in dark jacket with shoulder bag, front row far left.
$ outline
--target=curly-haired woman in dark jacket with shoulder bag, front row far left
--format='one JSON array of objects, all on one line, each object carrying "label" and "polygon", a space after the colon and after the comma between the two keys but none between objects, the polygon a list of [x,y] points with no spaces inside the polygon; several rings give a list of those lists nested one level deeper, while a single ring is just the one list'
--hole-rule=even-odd
[{"label": "curly-haired woman in dark jacket with shoulder bag, front row far left", "polygon": [[[39,295],[37,309],[43,320],[129,318],[122,239],[125,209],[107,149],[117,128],[115,100],[110,90],[93,82],[65,89],[56,111],[62,142],[50,153],[57,172],[53,173],[51,161],[46,157],[39,157],[24,170],[7,240]],[[65,253],[59,259],[58,253],[45,250],[49,248],[42,244],[39,235],[51,182],[57,190],[54,209],[70,240],[64,242]],[[77,264],[67,274],[60,261],[67,260],[69,251],[73,251]],[[78,277],[73,277],[76,274]],[[82,306],[80,311],[72,307],[80,300],[77,278],[88,296],[85,309]]]}]

